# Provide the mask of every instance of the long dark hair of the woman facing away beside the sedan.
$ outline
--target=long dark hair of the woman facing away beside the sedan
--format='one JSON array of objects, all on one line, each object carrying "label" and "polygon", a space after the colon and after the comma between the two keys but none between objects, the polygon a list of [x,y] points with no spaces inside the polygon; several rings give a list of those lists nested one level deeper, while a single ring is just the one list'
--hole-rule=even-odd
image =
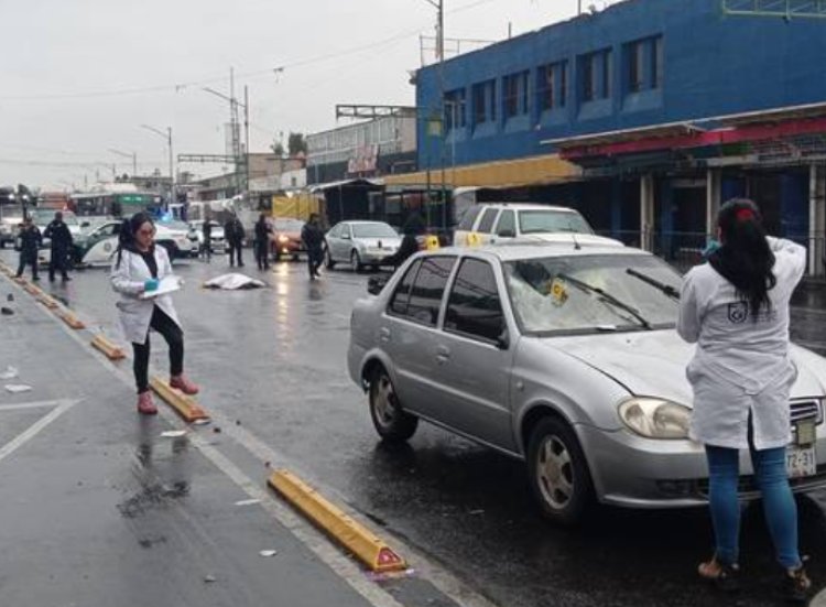
[{"label": "long dark hair of the woman facing away beside the sedan", "polygon": [[747,198],[735,198],[720,207],[717,225],[722,245],[708,262],[748,302],[752,321],[757,321],[761,308],[771,310],[769,291],[778,284],[774,253],[765,239],[760,209]]}]

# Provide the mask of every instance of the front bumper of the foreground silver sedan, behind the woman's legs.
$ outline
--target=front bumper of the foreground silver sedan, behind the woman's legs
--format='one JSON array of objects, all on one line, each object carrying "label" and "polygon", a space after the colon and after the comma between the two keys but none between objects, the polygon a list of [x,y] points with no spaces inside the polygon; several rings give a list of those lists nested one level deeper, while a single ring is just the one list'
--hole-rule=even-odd
[{"label": "front bumper of the foreground silver sedan, behind the woman's legs", "polygon": [[[795,492],[826,487],[826,436],[818,426],[815,443],[817,473],[791,479]],[[655,441],[630,431],[577,429],[597,498],[631,508],[686,508],[708,503],[708,465],[703,445],[692,441]],[[740,499],[760,492],[752,477],[749,452],[740,452]]]}]

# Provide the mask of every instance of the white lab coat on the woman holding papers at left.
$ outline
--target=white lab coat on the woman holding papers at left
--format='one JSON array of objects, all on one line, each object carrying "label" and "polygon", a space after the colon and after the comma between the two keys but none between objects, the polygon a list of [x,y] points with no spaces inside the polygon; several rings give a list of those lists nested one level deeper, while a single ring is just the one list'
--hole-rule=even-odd
[{"label": "white lab coat on the woman holding papers at left", "polygon": [[[157,263],[157,280],[172,274],[170,256],[163,247],[155,246],[155,263]],[[151,300],[139,299],[139,295],[143,292],[143,283],[151,278],[152,273],[140,254],[124,249],[120,265],[118,265],[116,253],[110,280],[112,289],[120,293],[120,301],[116,305],[120,312],[123,336],[133,344],[146,343],[154,306],[160,307],[177,326],[181,326],[175,307],[172,305],[171,295],[159,295]]]}]

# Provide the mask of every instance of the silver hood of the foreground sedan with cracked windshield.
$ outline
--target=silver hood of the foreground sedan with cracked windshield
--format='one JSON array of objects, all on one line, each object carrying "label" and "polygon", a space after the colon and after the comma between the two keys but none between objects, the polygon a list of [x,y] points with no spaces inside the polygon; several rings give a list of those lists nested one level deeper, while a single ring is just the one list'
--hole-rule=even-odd
[{"label": "silver hood of the foreground sedan with cracked windshield", "polygon": [[[685,369],[695,346],[683,342],[674,329],[555,337],[546,343],[601,371],[634,395],[692,404]],[[794,345],[791,354],[798,371],[792,398],[824,394],[826,360]]]}]

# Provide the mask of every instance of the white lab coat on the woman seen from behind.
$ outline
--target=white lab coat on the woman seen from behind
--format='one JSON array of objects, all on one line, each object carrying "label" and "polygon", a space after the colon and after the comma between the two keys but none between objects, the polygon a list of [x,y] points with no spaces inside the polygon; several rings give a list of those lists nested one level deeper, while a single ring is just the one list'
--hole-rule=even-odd
[{"label": "white lab coat on the woman seen from behind", "polygon": [[747,448],[752,415],[757,449],[792,438],[789,394],[797,369],[789,356],[789,301],[806,268],[806,249],[769,238],[778,284],[769,291],[771,312],[752,321],[733,285],[710,264],[683,279],[677,332],[696,343],[686,376],[694,390],[689,436],[704,444]]}]

